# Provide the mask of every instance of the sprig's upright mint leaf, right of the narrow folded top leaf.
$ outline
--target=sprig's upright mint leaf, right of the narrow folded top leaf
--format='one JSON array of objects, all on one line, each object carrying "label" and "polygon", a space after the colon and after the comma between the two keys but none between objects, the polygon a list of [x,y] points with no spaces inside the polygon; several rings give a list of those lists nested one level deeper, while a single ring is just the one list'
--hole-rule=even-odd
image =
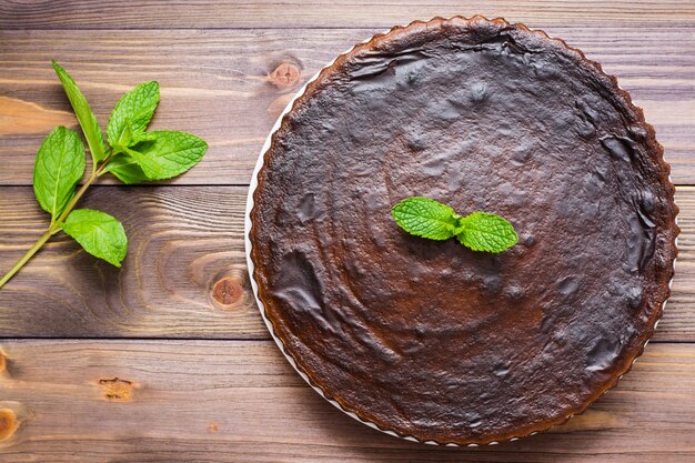
[{"label": "sprig's upright mint leaf, right of the narrow folded top leaf", "polygon": [[144,132],[148,128],[158,103],[159,83],[154,81],[141,83],[121,97],[107,125],[109,143],[112,147],[132,145],[132,141],[137,139],[135,134]]}]

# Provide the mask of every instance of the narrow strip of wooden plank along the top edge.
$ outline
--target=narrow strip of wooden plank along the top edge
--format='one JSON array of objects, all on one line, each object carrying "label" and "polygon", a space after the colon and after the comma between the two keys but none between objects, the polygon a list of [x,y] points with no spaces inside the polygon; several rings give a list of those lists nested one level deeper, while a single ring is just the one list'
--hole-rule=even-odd
[{"label": "narrow strip of wooden plank along the top edge", "polygon": [[0,2],[0,29],[197,29],[390,27],[434,16],[485,14],[548,24],[693,23],[692,1],[162,1],[52,0]]}]

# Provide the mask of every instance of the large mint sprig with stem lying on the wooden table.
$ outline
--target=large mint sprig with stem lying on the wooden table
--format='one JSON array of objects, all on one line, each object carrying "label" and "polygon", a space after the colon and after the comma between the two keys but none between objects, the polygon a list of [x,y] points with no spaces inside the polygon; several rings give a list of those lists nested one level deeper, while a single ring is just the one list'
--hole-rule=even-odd
[{"label": "large mint sprig with stem lying on the wooden table", "polygon": [[0,288],[60,231],[72,236],[88,253],[121,266],[128,252],[123,225],[104,212],[74,209],[84,192],[107,172],[127,184],[171,179],[198,164],[208,151],[208,144],[190,133],[147,131],[159,103],[159,83],[154,81],[135,87],[119,100],[109,118],[104,141],[97,117],[74,80],[60,64],[52,63],[82,128],[92,169],[75,192],[84,175],[82,140],[62,125],[43,140],[33,168],[33,192],[41,208],[51,214],[51,222],[36,244],[0,279]]}]

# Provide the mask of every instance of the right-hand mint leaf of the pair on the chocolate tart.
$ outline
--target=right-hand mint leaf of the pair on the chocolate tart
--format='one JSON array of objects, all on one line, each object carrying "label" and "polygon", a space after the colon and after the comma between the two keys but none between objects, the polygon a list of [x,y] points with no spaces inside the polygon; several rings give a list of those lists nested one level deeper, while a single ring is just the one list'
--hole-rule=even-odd
[{"label": "right-hand mint leaf of the pair on the chocolate tart", "polygon": [[518,242],[514,227],[496,214],[473,212],[460,220],[460,227],[456,239],[473,251],[502,252]]}]

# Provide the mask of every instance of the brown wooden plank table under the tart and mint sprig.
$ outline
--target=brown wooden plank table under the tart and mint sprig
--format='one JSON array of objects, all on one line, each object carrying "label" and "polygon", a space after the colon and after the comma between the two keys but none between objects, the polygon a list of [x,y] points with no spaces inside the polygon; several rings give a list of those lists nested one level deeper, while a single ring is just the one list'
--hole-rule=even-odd
[{"label": "brown wooden plank table under the tart and mint sprig", "polygon": [[[562,37],[620,77],[666,149],[683,232],[664,319],[615,390],[550,433],[439,449],[353,421],[288,365],[249,290],[242,219],[259,149],[302,82],[376,31],[476,12]],[[125,224],[122,269],[57,236],[0,291],[1,462],[695,462],[695,1],[0,0],[0,272],[47,225],[30,187],[42,138],[75,125],[51,58],[102,124],[157,79],[153,127],[210,151],[168,184],[88,194]]]}]

